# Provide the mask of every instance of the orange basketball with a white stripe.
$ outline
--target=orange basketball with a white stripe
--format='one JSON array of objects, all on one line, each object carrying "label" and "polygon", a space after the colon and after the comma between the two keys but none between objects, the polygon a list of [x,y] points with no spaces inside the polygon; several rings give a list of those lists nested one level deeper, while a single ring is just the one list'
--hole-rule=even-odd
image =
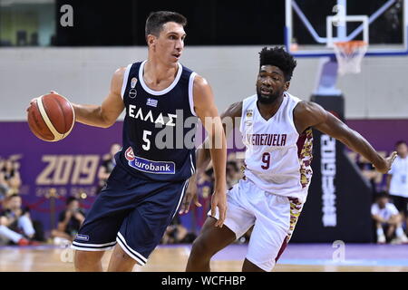
[{"label": "orange basketball with a white stripe", "polygon": [[62,95],[40,96],[28,108],[28,125],[36,137],[44,141],[63,140],[73,130],[73,105]]}]

